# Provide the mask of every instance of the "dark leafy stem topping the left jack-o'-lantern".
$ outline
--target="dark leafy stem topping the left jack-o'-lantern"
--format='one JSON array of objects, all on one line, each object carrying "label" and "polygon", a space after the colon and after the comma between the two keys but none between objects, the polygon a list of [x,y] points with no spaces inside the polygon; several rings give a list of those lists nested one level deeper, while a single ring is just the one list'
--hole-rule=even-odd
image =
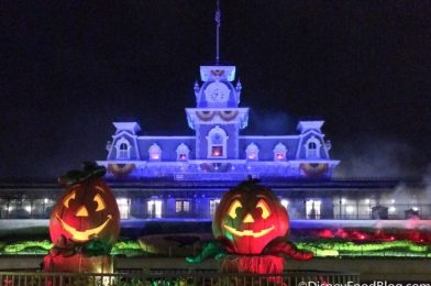
[{"label": "dark leafy stem topping the left jack-o'-lantern", "polygon": [[58,177],[58,184],[63,186],[71,186],[90,178],[100,178],[107,174],[107,168],[99,166],[96,162],[84,162],[82,170],[73,169],[66,175]]}]

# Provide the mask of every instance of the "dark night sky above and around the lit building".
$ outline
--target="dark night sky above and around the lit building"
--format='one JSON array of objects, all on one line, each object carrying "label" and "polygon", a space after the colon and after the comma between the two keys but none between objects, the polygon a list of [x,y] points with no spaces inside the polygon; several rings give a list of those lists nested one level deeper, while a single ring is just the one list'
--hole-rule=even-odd
[{"label": "dark night sky above and around the lit building", "polygon": [[[338,176],[416,176],[431,163],[431,2],[221,0],[245,134],[325,119]],[[54,178],[106,158],[115,120],[192,134],[214,1],[1,1],[0,177]]]}]

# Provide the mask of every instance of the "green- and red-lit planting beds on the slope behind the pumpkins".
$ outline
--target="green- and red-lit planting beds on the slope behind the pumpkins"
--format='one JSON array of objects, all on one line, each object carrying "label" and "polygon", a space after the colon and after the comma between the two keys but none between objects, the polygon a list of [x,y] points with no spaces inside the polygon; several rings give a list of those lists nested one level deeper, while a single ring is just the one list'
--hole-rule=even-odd
[{"label": "green- and red-lit planting beds on the slope behind the pumpkins", "polygon": [[[321,235],[317,234],[320,233]],[[340,235],[333,235],[341,233]],[[23,238],[37,238],[25,240]],[[187,256],[197,253],[211,240],[210,233],[152,234],[122,237],[113,245],[112,255]],[[299,250],[311,251],[316,257],[406,257],[431,258],[429,232],[412,230],[291,230]],[[21,229],[0,233],[0,255],[46,255],[53,246],[47,228]]]}]

